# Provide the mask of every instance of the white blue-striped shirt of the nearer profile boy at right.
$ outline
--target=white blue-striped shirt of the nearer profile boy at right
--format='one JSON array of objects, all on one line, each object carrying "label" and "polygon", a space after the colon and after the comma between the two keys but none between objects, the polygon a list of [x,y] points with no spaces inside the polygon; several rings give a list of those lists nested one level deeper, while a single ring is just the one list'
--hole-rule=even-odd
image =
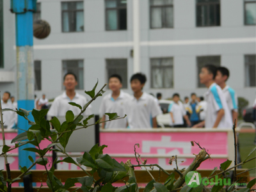
[{"label": "white blue-striped shirt of the nearer profile boy at right", "polygon": [[207,102],[205,128],[212,128],[216,122],[218,111],[224,109],[225,115],[221,118],[219,129],[232,129],[232,116],[227,106],[225,95],[220,86],[212,83],[207,92],[205,93],[205,100]]}]

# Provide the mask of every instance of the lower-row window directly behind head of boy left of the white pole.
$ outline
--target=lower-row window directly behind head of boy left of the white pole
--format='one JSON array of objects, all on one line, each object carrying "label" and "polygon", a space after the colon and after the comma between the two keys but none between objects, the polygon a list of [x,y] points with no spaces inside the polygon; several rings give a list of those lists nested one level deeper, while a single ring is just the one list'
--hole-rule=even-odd
[{"label": "lower-row window directly behind head of boy left of the white pole", "polygon": [[106,60],[106,69],[108,79],[113,74],[118,74],[122,77],[123,88],[127,88],[127,59]]}]

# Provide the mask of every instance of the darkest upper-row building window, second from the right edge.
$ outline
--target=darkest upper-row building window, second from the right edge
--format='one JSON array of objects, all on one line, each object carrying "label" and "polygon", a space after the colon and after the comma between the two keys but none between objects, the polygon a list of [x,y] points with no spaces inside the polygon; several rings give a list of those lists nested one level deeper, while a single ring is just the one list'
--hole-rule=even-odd
[{"label": "darkest upper-row building window, second from the right edge", "polygon": [[220,0],[196,0],[196,26],[220,26]]}]

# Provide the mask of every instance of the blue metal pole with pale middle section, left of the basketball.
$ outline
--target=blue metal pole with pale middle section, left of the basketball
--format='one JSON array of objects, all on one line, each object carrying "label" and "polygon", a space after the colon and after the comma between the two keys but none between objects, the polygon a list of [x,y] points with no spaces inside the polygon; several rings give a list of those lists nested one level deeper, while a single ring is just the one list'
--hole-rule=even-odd
[{"label": "blue metal pole with pale middle section, left of the basketball", "polygon": [[[34,108],[34,65],[33,65],[33,12],[36,0],[11,0],[11,11],[16,16],[16,53],[17,53],[17,100],[18,108]],[[33,120],[33,116],[29,115]],[[30,125],[22,116],[18,117],[18,127],[28,130]],[[18,134],[24,132],[18,129]],[[19,147],[19,166],[31,166],[28,156],[35,161],[35,152],[22,150],[34,147]],[[34,166],[35,169],[35,166]]]}]

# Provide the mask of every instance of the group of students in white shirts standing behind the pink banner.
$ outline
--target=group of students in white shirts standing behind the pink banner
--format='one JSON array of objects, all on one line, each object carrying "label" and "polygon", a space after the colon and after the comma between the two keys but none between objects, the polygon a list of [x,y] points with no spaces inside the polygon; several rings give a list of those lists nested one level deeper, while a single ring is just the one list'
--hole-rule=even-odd
[{"label": "group of students in white shirts standing behind the pink banner", "polygon": [[[231,128],[234,119],[237,118],[237,98],[234,90],[225,83],[229,77],[228,69],[205,65],[199,77],[200,83],[205,84],[208,88],[205,93],[204,106],[196,102],[195,93],[191,95],[192,101],[190,104],[188,102],[182,104],[179,94],[173,94],[173,102],[168,108],[173,127],[184,127],[185,120],[188,127]],[[108,86],[111,93],[103,97],[99,109],[100,116],[102,116],[101,122],[103,122],[102,128],[157,128],[156,117],[163,112],[157,99],[143,91],[146,81],[147,77],[144,74],[134,74],[130,79],[133,94],[129,95],[121,90],[122,77],[117,74],[109,77]],[[76,102],[81,106],[87,103],[86,98],[75,91],[77,85],[75,74],[70,72],[65,74],[63,85],[65,86],[65,92],[54,99],[48,112],[49,116],[65,116],[68,110],[73,111],[74,115],[78,115],[80,109],[71,106],[68,102]],[[4,106],[9,98],[10,93],[4,93],[2,108],[10,108]],[[190,111],[190,118],[186,109]],[[205,120],[200,121],[195,118],[198,111],[201,111],[201,114],[204,111]],[[108,120],[105,113],[117,113],[120,117],[127,116],[105,123]],[[89,106],[83,115],[91,114],[91,106]]]}]

